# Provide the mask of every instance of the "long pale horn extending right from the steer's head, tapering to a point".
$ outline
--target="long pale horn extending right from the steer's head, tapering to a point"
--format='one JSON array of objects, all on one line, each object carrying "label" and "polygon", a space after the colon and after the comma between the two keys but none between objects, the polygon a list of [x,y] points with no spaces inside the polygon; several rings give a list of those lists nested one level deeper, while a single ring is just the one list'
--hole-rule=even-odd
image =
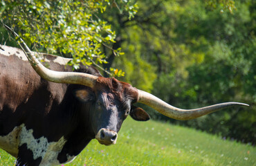
[{"label": "long pale horn extending right from the steer's head, tapering to a point", "polygon": [[138,90],[138,102],[146,104],[147,106],[152,107],[159,113],[162,113],[164,116],[167,116],[169,118],[173,118],[176,120],[190,120],[190,119],[198,118],[208,113],[212,113],[214,111],[218,111],[220,109],[224,109],[234,105],[249,106],[248,104],[244,104],[240,102],[224,102],[221,104],[214,104],[214,105],[211,105],[208,107],[202,107],[199,109],[179,109],[179,108],[173,107],[170,104],[167,104],[166,102],[164,102],[159,98],[156,98],[156,96],[141,90]]}]

